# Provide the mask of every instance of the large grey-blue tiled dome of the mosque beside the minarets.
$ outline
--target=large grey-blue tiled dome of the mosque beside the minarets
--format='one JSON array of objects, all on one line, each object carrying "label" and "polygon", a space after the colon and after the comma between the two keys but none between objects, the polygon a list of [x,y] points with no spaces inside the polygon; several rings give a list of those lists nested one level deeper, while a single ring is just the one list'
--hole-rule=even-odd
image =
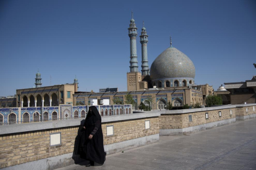
[{"label": "large grey-blue tiled dome of the mosque beside the minarets", "polygon": [[195,78],[195,66],[183,52],[174,47],[168,47],[152,63],[150,77],[152,80],[163,78]]}]

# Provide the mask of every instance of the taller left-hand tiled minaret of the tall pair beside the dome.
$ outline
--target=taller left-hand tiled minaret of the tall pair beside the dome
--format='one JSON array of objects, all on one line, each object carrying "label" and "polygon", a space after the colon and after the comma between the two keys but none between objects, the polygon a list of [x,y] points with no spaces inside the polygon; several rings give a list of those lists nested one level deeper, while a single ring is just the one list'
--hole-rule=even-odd
[{"label": "taller left-hand tiled minaret of the tall pair beside the dome", "polygon": [[130,37],[130,72],[138,72],[138,60],[137,60],[137,30],[134,14],[132,13],[132,19],[130,20],[129,37]]}]

